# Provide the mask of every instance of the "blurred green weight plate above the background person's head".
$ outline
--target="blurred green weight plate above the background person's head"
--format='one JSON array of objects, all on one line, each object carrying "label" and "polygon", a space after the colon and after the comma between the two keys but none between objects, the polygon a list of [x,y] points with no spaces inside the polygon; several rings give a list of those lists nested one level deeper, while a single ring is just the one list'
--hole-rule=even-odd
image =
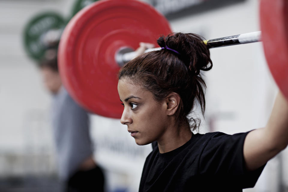
[{"label": "blurred green weight plate above the background person's head", "polygon": [[49,30],[64,29],[65,20],[58,13],[46,12],[34,16],[24,29],[24,47],[30,57],[39,61],[47,47],[41,42],[41,36]]}]

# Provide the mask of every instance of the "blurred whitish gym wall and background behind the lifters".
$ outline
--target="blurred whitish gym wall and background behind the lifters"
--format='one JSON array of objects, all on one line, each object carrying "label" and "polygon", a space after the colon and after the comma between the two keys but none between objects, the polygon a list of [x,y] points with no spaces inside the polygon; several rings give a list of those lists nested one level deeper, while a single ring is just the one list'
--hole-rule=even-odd
[{"label": "blurred whitish gym wall and background behind the lifters", "polygon": [[[175,32],[210,39],[260,30],[257,0],[143,1],[163,13]],[[29,19],[45,11],[70,18],[75,2],[0,1],[0,191],[60,191],[49,122],[51,97],[25,52],[23,30]],[[211,49],[211,58],[200,132],[234,134],[265,126],[277,86],[262,43]],[[105,169],[107,191],[137,191],[151,146],[137,146],[118,119],[93,114],[91,136],[95,159]],[[243,191],[288,191],[287,162],[286,149],[268,162],[253,189]]]}]

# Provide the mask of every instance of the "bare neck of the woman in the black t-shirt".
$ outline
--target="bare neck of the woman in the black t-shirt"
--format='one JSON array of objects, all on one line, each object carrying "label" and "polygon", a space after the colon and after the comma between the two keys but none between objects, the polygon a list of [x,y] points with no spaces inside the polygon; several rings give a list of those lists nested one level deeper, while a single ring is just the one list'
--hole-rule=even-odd
[{"label": "bare neck of the woman in the black t-shirt", "polygon": [[168,128],[161,139],[157,141],[159,152],[167,153],[181,147],[191,139],[192,134],[190,128],[187,126]]}]

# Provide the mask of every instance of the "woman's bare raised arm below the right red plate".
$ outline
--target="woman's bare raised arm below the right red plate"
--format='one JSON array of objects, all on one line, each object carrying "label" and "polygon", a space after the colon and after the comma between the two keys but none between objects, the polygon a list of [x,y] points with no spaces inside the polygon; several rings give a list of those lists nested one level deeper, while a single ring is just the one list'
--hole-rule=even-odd
[{"label": "woman's bare raised arm below the right red plate", "polygon": [[251,131],[244,141],[248,170],[256,170],[288,145],[288,101],[279,91],[265,128]]}]

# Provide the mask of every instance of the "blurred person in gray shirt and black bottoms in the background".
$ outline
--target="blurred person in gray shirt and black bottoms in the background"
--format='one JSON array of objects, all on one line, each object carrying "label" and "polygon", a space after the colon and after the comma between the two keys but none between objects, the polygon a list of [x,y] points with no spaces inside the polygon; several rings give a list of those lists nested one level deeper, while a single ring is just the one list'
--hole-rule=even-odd
[{"label": "blurred person in gray shirt and black bottoms in the background", "polygon": [[52,127],[64,191],[104,191],[104,174],[92,158],[89,116],[62,86],[56,50],[47,50],[39,66],[44,85],[53,96]]}]

